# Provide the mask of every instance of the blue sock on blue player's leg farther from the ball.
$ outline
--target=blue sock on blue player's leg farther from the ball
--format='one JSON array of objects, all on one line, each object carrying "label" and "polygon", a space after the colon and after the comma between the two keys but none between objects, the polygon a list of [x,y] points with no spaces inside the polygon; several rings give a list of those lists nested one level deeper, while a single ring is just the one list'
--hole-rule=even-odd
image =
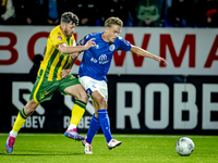
[{"label": "blue sock on blue player's leg farther from the ball", "polygon": [[97,117],[95,117],[95,113],[94,113],[89,123],[89,128],[86,136],[86,142],[92,143],[93,138],[99,128],[100,128],[100,122]]}]

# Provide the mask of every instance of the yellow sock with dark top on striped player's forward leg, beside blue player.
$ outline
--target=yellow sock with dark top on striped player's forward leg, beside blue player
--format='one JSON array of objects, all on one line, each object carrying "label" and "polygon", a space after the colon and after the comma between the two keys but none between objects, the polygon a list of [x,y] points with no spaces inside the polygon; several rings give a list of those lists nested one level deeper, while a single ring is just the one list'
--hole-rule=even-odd
[{"label": "yellow sock with dark top on striped player's forward leg, beside blue player", "polygon": [[80,100],[76,100],[72,112],[71,112],[71,121],[70,124],[76,125],[80,123],[83,114],[85,113],[86,103]]}]

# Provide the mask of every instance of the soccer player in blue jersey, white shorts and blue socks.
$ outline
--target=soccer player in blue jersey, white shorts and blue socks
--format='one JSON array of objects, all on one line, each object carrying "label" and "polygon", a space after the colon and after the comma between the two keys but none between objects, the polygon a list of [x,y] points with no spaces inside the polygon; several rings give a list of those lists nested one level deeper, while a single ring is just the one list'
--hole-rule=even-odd
[{"label": "soccer player in blue jersey, white shorts and blue socks", "polygon": [[92,140],[98,129],[101,127],[107,140],[108,149],[113,149],[122,142],[112,138],[110,131],[110,122],[107,111],[108,86],[107,73],[110,68],[112,55],[116,50],[131,51],[138,55],[154,59],[158,62],[167,61],[156,57],[142,48],[131,45],[119,36],[123,23],[118,17],[109,17],[105,22],[105,32],[88,34],[77,45],[83,46],[89,39],[95,39],[96,46],[84,52],[82,63],[78,70],[82,86],[93,99],[95,114],[89,124],[89,129],[86,138],[82,141],[85,146],[85,153],[92,154]]}]

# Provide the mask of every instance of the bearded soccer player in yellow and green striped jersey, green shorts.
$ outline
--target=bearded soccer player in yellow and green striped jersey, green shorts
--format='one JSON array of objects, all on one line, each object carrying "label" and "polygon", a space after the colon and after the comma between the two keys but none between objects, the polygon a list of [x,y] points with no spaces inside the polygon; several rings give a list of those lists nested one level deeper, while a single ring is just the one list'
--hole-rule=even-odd
[{"label": "bearded soccer player in yellow and green striped jersey, green shorts", "polygon": [[85,112],[88,97],[77,78],[70,74],[70,71],[80,51],[95,47],[95,42],[90,40],[84,46],[75,46],[73,33],[78,24],[78,17],[72,12],[63,13],[60,22],[60,25],[55,27],[48,37],[46,54],[40,64],[29,101],[19,112],[14,126],[9,133],[5,143],[8,153],[13,151],[17,133],[26,118],[34,113],[41,102],[50,100],[56,90],[76,98],[70,125],[64,136],[75,140],[84,139],[83,136],[77,134],[76,126]]}]

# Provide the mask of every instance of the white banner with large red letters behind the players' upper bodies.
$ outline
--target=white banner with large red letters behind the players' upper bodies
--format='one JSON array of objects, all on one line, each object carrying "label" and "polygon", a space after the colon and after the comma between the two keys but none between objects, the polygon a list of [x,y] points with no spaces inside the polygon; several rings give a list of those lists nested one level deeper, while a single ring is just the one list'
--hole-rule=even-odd
[{"label": "white banner with large red letters behind the players' upper bodies", "polygon": [[[28,73],[34,54],[44,55],[51,26],[0,26],[0,73]],[[76,40],[104,27],[76,27]],[[117,51],[109,74],[218,75],[218,30],[213,28],[123,27],[121,37],[162,57],[168,66]],[[77,74],[80,60],[72,73]]]}]

